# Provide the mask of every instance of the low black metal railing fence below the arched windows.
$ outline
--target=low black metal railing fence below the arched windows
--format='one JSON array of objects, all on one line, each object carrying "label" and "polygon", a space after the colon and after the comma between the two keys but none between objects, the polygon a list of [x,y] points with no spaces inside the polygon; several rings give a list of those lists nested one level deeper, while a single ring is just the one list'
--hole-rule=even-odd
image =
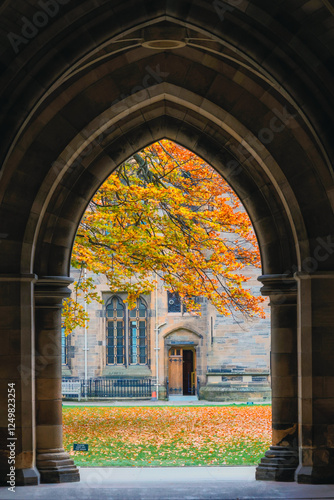
[{"label": "low black metal railing fence below the arched windows", "polygon": [[[66,393],[66,382],[63,379],[63,396]],[[152,396],[152,380],[148,379],[88,379],[81,380],[81,396],[88,398],[150,398]]]}]

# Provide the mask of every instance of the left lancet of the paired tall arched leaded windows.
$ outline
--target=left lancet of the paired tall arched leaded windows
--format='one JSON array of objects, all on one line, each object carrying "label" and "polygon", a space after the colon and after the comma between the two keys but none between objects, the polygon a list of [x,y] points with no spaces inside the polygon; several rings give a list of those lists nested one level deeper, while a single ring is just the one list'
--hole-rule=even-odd
[{"label": "left lancet of the paired tall arched leaded windows", "polygon": [[125,362],[125,306],[119,297],[112,297],[106,306],[107,364]]}]

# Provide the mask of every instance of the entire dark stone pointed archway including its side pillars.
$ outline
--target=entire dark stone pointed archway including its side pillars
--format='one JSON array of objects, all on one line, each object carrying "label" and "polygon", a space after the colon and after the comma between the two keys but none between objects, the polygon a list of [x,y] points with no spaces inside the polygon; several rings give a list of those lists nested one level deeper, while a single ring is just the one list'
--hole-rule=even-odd
[{"label": "entire dark stone pointed archway including its side pillars", "polygon": [[258,478],[333,482],[333,39],[327,4],[306,4],[58,1],[39,27],[37,1],[15,26],[1,7],[2,397],[14,381],[17,484],[78,478],[61,435],[71,246],[107,175],[163,137],[225,177],[258,237],[274,431]]}]

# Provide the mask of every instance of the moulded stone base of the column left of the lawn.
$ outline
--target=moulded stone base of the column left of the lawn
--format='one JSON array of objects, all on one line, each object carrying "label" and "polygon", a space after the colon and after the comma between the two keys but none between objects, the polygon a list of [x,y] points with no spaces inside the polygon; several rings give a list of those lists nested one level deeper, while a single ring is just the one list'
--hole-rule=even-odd
[{"label": "moulded stone base of the column left of the lawn", "polygon": [[41,483],[80,481],[79,469],[62,448],[37,451],[37,468],[41,475]]}]

